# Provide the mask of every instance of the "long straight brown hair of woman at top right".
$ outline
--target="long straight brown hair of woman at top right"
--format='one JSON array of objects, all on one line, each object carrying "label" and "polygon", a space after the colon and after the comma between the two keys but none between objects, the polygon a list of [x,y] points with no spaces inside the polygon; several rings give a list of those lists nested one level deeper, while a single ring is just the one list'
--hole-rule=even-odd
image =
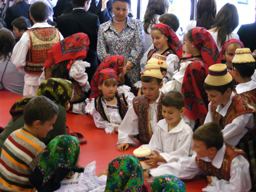
[{"label": "long straight brown hair of woman at top right", "polygon": [[234,29],[239,24],[239,15],[236,6],[226,3],[216,15],[216,22],[212,28],[215,28],[215,32],[218,32],[217,44],[223,45]]}]

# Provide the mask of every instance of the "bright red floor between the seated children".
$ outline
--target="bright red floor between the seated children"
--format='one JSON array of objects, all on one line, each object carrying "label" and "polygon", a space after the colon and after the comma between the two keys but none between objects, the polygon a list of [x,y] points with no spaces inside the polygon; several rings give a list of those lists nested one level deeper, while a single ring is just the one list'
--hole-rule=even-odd
[{"label": "bright red floor between the seated children", "polygon": [[[0,91],[0,127],[4,127],[8,123],[11,118],[9,114],[11,106],[22,97],[8,91]],[[108,167],[108,163],[115,157],[122,154],[133,154],[133,150],[136,148],[132,146],[127,151],[117,151],[117,134],[106,134],[104,130],[97,129],[91,116],[68,114],[67,125],[72,131],[84,134],[88,140],[87,144],[81,145],[79,164],[85,166],[92,161],[96,161],[97,173]],[[138,144],[140,143],[138,142]],[[207,185],[204,177],[184,182],[187,192],[201,191]],[[150,185],[148,182],[145,182],[145,184]]]}]

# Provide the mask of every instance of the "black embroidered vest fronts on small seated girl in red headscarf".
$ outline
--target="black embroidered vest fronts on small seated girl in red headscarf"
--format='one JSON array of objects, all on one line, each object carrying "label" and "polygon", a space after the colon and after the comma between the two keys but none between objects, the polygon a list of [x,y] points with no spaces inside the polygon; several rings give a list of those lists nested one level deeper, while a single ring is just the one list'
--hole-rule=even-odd
[{"label": "black embroidered vest fronts on small seated girl in red headscarf", "polygon": [[[116,99],[117,99],[117,106],[118,106],[118,112],[119,112],[119,115],[120,117],[123,119],[128,108],[128,104],[126,102],[126,99],[125,99],[125,96],[124,94],[115,94],[116,95]],[[94,99],[94,104],[95,104],[95,109],[97,110],[97,112],[100,114],[100,116],[105,119],[106,121],[109,121],[109,117],[108,115],[106,114],[106,111],[102,105],[102,96],[98,96]]]}]

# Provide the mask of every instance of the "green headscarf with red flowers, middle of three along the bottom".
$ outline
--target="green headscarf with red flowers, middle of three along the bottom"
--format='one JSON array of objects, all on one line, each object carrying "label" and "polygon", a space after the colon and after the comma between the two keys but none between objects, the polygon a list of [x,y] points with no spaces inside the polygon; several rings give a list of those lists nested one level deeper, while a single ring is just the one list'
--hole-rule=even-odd
[{"label": "green headscarf with red flowers, middle of three along the bottom", "polygon": [[143,168],[133,155],[122,155],[109,163],[105,192],[140,192],[144,180]]}]

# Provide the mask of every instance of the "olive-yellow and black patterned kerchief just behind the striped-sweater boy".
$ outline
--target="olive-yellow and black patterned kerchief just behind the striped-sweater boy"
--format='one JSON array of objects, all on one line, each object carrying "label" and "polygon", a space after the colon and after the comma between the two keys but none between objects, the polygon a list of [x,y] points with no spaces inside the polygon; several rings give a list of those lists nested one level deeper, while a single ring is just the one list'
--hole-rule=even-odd
[{"label": "olive-yellow and black patterned kerchief just behind the striped-sweater boy", "polygon": [[53,102],[67,106],[73,94],[73,83],[66,79],[49,78],[43,81],[36,96],[44,95]]}]

